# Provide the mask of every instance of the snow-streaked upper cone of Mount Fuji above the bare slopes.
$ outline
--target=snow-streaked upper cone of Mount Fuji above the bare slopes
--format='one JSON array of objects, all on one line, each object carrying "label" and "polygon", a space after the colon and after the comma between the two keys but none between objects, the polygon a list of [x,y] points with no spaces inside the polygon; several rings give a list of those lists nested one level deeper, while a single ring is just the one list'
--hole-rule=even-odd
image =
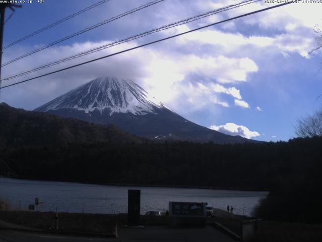
[{"label": "snow-streaked upper cone of Mount Fuji above the bare slopes", "polygon": [[85,83],[36,110],[49,111],[61,108],[72,108],[86,113],[94,110],[101,113],[109,111],[109,115],[118,112],[145,115],[156,113],[159,108],[169,109],[136,83],[109,77],[100,77]]}]

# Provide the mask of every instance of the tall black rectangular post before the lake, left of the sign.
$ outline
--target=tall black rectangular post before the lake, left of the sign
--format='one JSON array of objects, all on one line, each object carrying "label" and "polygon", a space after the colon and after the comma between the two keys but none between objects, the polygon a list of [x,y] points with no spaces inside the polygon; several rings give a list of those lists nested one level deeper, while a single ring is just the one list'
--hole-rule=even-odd
[{"label": "tall black rectangular post before the lake, left of the sign", "polygon": [[141,190],[129,190],[127,205],[127,224],[129,226],[140,225]]}]

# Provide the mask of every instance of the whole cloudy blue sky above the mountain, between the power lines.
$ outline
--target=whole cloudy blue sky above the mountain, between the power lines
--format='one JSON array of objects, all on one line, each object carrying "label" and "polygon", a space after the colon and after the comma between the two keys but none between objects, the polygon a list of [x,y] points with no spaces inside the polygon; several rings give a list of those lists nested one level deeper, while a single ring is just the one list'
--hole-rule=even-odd
[{"label": "whole cloudy blue sky above the mountain, between the power lines", "polygon": [[[98,0],[33,2],[6,23],[4,46]],[[3,63],[148,2],[111,0],[5,49]],[[165,0],[8,65],[2,76],[238,2]],[[264,1],[246,5],[2,85],[269,6]],[[287,5],[3,89],[0,101],[32,110],[80,84],[110,76],[137,82],[199,125],[256,140],[288,140],[295,137],[296,119],[321,107],[322,99],[316,98],[322,94],[322,56],[308,55],[316,44],[313,28],[322,24],[321,12],[322,4]]]}]

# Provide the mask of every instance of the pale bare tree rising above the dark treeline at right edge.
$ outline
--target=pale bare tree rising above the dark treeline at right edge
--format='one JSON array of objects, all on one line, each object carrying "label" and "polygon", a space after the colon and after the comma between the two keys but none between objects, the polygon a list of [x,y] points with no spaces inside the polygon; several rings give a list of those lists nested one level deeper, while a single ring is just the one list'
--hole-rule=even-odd
[{"label": "pale bare tree rising above the dark treeline at right edge", "polygon": [[322,136],[322,109],[313,115],[298,119],[295,133],[303,138]]}]

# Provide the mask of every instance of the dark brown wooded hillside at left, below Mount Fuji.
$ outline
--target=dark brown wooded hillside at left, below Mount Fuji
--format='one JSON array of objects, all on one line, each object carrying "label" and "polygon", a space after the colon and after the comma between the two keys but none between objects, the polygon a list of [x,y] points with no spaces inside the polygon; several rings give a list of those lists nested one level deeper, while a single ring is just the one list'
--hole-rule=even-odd
[{"label": "dark brown wooded hillside at left, below Mount Fuji", "polygon": [[0,146],[65,145],[67,143],[141,143],[115,126],[89,124],[49,113],[26,111],[0,103]]}]

